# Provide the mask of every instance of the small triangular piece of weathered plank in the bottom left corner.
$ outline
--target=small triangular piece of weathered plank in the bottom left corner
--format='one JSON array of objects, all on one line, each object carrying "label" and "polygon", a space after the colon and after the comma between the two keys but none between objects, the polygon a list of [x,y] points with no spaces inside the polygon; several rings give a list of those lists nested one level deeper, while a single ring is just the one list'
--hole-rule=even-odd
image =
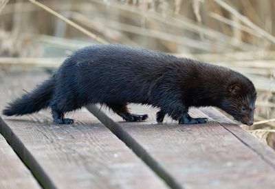
[{"label": "small triangular piece of weathered plank in the bottom left corner", "polygon": [[2,135],[0,135],[0,188],[41,188]]}]

